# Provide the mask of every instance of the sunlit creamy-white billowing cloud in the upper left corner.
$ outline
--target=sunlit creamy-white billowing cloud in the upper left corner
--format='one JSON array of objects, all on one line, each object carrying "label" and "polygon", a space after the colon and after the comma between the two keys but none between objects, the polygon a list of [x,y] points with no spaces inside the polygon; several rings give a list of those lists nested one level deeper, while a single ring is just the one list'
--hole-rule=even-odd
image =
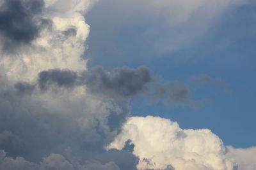
[{"label": "sunlit creamy-white billowing cloud in the upper left corner", "polygon": [[[12,6],[9,5],[10,8],[8,7],[9,2],[19,5],[18,10],[24,13],[24,15],[20,15],[20,17],[23,16],[22,19],[15,18],[19,15],[14,12],[17,10],[13,10],[15,6],[11,8]],[[86,24],[83,15],[95,1],[42,1],[42,6],[38,6],[36,2],[41,2],[41,0],[1,1],[1,6],[7,6],[9,9],[3,12],[15,14],[12,18],[18,25],[20,24],[19,27],[15,24],[17,28],[21,29],[18,31],[28,32],[28,34],[24,33],[24,36],[25,40],[29,42],[27,45],[19,46],[18,51],[16,50],[14,53],[5,52],[6,48],[3,43],[16,37],[13,33],[16,31],[16,26],[13,25],[15,27],[9,29],[4,22],[6,17],[3,15],[3,28],[0,28],[0,32],[11,31],[10,38],[1,41],[0,44],[2,47],[0,49],[1,68],[8,75],[8,79],[10,81],[35,81],[41,71],[56,68],[73,71],[85,70],[86,60],[81,59],[81,56],[86,49],[84,42],[88,37],[90,27]],[[38,6],[38,8],[32,6]],[[33,30],[30,30],[29,26]],[[35,31],[34,28],[36,28]],[[27,31],[27,29],[29,30]],[[3,32],[3,34],[5,33]],[[22,34],[19,33],[19,36]],[[10,49],[15,50],[13,45],[15,43],[10,43]]]}]

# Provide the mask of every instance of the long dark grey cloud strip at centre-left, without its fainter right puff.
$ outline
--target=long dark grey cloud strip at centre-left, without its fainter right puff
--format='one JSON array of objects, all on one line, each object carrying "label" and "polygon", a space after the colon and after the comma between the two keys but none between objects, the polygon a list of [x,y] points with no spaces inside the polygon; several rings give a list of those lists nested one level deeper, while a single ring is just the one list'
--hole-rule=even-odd
[{"label": "long dark grey cloud strip at centre-left, without its fainter right puff", "polygon": [[38,74],[38,85],[46,90],[51,85],[74,88],[86,85],[92,94],[108,97],[132,97],[147,89],[146,84],[152,81],[147,67],[132,69],[120,67],[113,73],[104,71],[102,67],[93,67],[83,73],[70,70],[51,69]]}]

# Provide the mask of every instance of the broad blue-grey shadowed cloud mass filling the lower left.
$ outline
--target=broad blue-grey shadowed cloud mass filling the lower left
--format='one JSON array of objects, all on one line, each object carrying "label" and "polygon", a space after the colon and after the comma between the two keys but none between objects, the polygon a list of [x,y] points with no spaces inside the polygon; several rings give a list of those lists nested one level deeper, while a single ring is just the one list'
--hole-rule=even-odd
[{"label": "broad blue-grey shadowed cloud mass filling the lower left", "polygon": [[[128,100],[86,94],[79,96],[79,101],[66,101],[72,91],[67,95],[55,94],[44,88],[84,85],[81,74],[49,70],[38,77],[36,85],[19,81],[12,86],[4,85],[8,81],[0,81],[0,150],[6,152],[1,151],[0,167],[136,169],[138,158],[132,153],[104,149],[121,131],[130,111]],[[37,91],[40,88],[44,94]],[[67,148],[72,150],[69,155]]]}]

